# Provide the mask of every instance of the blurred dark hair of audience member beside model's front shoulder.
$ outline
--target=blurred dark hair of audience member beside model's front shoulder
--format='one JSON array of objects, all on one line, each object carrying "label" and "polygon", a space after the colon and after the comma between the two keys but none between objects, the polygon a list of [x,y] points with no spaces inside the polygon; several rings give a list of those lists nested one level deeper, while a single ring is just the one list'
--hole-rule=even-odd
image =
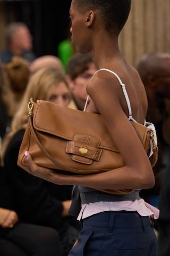
[{"label": "blurred dark hair of audience member beside model's front shoulder", "polygon": [[76,53],[67,64],[66,73],[70,75],[71,78],[74,80],[76,77],[84,73],[84,71],[89,68],[89,64],[91,62],[93,62],[91,53]]}]

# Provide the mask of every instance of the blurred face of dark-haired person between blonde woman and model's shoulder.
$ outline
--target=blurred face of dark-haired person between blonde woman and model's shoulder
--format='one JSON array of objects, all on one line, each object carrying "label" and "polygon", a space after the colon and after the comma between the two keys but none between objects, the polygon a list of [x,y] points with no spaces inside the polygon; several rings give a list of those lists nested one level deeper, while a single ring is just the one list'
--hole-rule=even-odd
[{"label": "blurred face of dark-haired person between blonde woman and model's shoulder", "polygon": [[72,83],[72,90],[75,99],[86,101],[86,85],[88,84],[90,78],[94,75],[96,71],[97,69],[95,64],[91,62],[89,63],[89,68],[74,79]]}]

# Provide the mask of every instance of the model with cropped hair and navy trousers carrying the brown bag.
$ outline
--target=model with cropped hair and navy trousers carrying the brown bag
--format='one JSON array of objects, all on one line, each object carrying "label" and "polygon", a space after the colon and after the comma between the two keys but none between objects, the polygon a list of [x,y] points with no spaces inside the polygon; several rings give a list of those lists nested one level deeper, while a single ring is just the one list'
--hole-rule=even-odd
[{"label": "model with cropped hair and navy trousers carrying the brown bag", "polygon": [[[103,117],[125,165],[107,175],[62,175],[37,166],[25,152],[29,173],[61,185],[79,185],[73,190],[70,212],[79,214],[83,229],[69,256],[157,254],[149,215],[158,212],[139,197],[139,189],[154,186],[154,174],[129,121],[145,123],[147,97],[137,71],[126,63],[118,47],[118,35],[128,19],[130,6],[130,0],[72,0],[70,8],[72,41],[80,53],[91,52],[99,70],[87,85],[92,99],[87,111]],[[128,107],[124,86],[130,99]],[[97,191],[98,188],[134,191],[109,195]],[[80,213],[77,198],[81,199]]]}]

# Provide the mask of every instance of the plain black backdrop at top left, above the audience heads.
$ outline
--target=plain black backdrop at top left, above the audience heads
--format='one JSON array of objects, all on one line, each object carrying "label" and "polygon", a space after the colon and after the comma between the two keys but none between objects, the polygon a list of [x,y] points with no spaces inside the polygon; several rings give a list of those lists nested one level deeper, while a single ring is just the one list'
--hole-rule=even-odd
[{"label": "plain black backdrop at top left, above the audience heads", "polygon": [[15,21],[24,22],[33,36],[33,51],[37,57],[57,55],[57,45],[67,38],[71,0],[3,1],[7,23],[13,13]]}]

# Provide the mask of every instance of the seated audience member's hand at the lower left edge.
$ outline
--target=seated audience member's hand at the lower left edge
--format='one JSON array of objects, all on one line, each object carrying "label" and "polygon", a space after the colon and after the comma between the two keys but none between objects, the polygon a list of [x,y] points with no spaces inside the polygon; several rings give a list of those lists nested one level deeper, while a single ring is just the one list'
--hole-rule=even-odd
[{"label": "seated audience member's hand at the lower left edge", "polygon": [[0,223],[2,228],[13,228],[18,220],[18,214],[16,212],[0,208]]}]

